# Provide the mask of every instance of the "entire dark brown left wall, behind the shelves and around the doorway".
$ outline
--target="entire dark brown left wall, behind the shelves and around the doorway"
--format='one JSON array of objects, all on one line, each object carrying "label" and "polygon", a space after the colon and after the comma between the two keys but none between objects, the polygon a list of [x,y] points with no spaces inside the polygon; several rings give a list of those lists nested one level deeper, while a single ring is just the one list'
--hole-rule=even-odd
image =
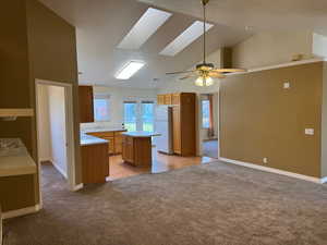
[{"label": "entire dark brown left wall, behind the shelves and around the doorway", "polygon": [[[80,183],[75,29],[37,0],[4,1],[0,13],[0,107],[35,108],[35,78],[73,84],[76,182]],[[22,138],[37,160],[35,118],[0,122],[0,137]],[[4,211],[38,204],[38,193],[37,174],[0,179]]]}]

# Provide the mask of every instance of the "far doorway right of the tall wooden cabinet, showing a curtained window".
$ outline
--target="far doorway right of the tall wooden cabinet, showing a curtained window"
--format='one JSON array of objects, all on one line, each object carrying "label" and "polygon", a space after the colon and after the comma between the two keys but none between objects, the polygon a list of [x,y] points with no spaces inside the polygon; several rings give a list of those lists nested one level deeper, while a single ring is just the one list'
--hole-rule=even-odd
[{"label": "far doorway right of the tall wooden cabinet, showing a curtained window", "polygon": [[199,95],[201,145],[205,157],[218,159],[218,93]]}]

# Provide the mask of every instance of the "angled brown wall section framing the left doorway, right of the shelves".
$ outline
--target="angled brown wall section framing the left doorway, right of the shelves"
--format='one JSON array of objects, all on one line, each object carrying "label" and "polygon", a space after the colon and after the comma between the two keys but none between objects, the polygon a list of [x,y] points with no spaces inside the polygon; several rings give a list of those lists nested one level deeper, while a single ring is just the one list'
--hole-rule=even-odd
[{"label": "angled brown wall section framing the left doorway, right of the shelves", "polygon": [[[80,184],[82,170],[75,27],[36,0],[28,0],[26,3],[33,106],[35,107],[36,78],[73,85],[76,184]],[[36,130],[35,125],[34,128]]]}]

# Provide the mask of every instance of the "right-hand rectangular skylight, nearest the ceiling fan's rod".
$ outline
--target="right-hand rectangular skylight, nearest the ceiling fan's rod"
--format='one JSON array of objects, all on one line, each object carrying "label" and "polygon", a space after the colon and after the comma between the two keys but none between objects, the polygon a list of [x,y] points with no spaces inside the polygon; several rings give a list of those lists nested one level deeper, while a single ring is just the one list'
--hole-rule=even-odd
[{"label": "right-hand rectangular skylight, nearest the ceiling fan's rod", "polygon": [[[196,21],[189,28],[186,28],[180,36],[178,36],[172,42],[170,42],[161,52],[162,56],[174,57],[189,45],[195,41],[203,35],[203,22]],[[208,32],[214,25],[206,24],[206,32]]]}]

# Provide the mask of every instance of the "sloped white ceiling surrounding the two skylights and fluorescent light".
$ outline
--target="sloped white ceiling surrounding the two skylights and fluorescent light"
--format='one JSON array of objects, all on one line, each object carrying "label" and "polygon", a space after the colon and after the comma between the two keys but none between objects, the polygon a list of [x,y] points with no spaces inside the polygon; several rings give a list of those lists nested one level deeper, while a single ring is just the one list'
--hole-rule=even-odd
[{"label": "sloped white ceiling surrounding the two skylights and fluorescent light", "polygon": [[[173,16],[140,50],[134,51],[118,49],[117,46],[148,9],[147,3],[137,0],[40,1],[76,26],[78,70],[83,72],[80,76],[81,84],[138,88],[165,86],[166,72],[185,70],[202,59],[201,38],[175,57],[159,56],[168,44],[198,20],[190,15],[198,14],[197,7],[201,5],[198,0],[149,0],[155,3],[153,7],[158,3],[164,9],[169,9]],[[228,1],[231,0],[223,2]],[[189,5],[189,2],[192,4]],[[214,5],[219,7],[217,3]],[[177,13],[174,10],[185,14]],[[235,45],[252,35],[252,32],[246,32],[244,27],[217,24],[221,22],[220,19],[213,19],[215,11],[210,11],[210,15],[215,21],[215,26],[207,33],[208,53],[223,46]],[[146,65],[130,81],[116,79],[117,72],[131,60],[143,60]],[[154,83],[154,78],[160,78],[160,81]]]}]

